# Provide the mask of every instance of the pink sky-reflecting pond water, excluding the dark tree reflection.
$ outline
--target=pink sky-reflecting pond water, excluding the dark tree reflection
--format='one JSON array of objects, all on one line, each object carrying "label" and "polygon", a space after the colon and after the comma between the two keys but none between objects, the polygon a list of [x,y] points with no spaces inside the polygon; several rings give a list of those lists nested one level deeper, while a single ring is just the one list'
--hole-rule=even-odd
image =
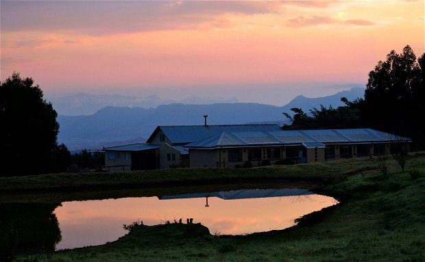
[{"label": "pink sky-reflecting pond water, excluding the dark tree reflection", "polygon": [[337,204],[306,189],[226,192],[62,202],[54,209],[61,240],[56,250],[105,244],[125,235],[123,224],[145,225],[193,218],[210,233],[241,235],[283,229],[300,216]]}]

